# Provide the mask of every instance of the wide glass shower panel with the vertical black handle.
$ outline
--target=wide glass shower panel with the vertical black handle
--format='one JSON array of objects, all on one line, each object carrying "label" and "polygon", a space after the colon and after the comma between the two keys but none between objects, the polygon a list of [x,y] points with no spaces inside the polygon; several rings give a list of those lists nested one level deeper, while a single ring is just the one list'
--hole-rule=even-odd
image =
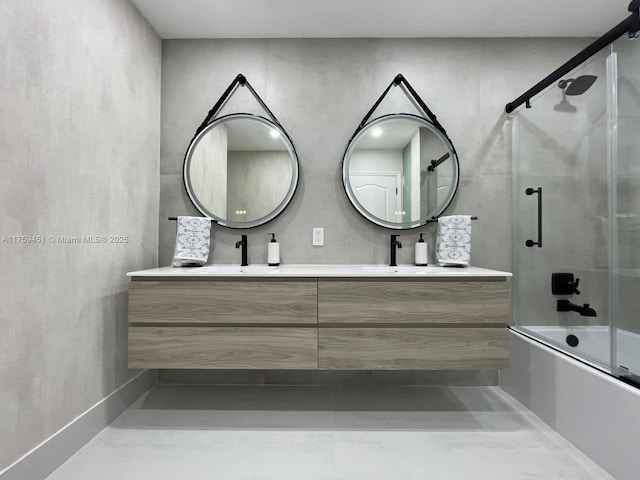
[{"label": "wide glass shower panel with the vertical black handle", "polygon": [[[514,321],[601,368],[610,363],[609,54],[581,65],[513,119]],[[571,88],[574,81],[580,88]],[[552,293],[554,273],[570,274],[556,275],[562,293]]]}]

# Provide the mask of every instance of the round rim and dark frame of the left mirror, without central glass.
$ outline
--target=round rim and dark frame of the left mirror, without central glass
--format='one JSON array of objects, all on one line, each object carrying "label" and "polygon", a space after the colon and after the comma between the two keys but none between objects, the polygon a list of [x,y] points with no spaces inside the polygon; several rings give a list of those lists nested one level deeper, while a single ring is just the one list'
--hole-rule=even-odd
[{"label": "round rim and dark frame of the left mirror, without central glass", "polygon": [[[202,138],[211,130],[213,130],[214,128],[216,128],[219,125],[222,125],[224,123],[228,123],[230,121],[233,121],[234,119],[245,119],[245,120],[252,120],[258,123],[262,123],[263,125],[269,127],[269,128],[273,128],[277,131],[280,132],[280,137],[282,139],[282,141],[285,144],[285,147],[287,149],[287,151],[289,152],[289,158],[291,159],[291,183],[289,184],[289,189],[284,197],[284,199],[280,202],[280,204],[273,209],[271,212],[269,212],[267,215],[260,217],[256,220],[251,220],[251,221],[247,221],[247,222],[233,222],[233,221],[229,221],[225,218],[220,218],[217,215],[214,215],[212,212],[210,212],[209,210],[207,210],[207,208],[202,205],[202,203],[200,201],[198,201],[197,196],[194,194],[194,192],[192,191],[191,188],[191,182],[188,179],[188,168],[191,162],[191,156],[193,154],[194,149],[197,147],[198,143],[200,142],[200,140],[202,140]],[[217,117],[215,120],[212,120],[210,123],[208,123],[206,125],[206,127],[204,127],[200,132],[198,132],[193,139],[191,140],[191,142],[189,143],[189,147],[187,148],[187,152],[184,156],[184,163],[183,163],[183,168],[182,168],[182,181],[185,187],[185,190],[187,191],[187,195],[189,196],[189,199],[191,200],[191,203],[193,204],[193,206],[205,217],[210,218],[213,222],[215,222],[218,225],[221,225],[223,227],[228,227],[228,228],[236,228],[236,229],[240,229],[240,228],[253,228],[253,227],[257,227],[259,225],[264,225],[267,222],[270,222],[271,220],[273,220],[274,218],[276,218],[278,215],[280,215],[283,210],[289,205],[289,203],[291,202],[291,200],[293,199],[293,196],[295,195],[295,192],[298,188],[298,182],[299,182],[299,176],[300,176],[300,168],[299,168],[299,160],[298,160],[298,154],[296,153],[296,149],[293,145],[293,142],[291,141],[291,138],[289,137],[289,135],[287,134],[287,132],[284,130],[284,128],[282,128],[281,125],[265,118],[262,117],[260,115],[255,115],[252,113],[232,113],[229,115],[224,115],[221,117]]]}]

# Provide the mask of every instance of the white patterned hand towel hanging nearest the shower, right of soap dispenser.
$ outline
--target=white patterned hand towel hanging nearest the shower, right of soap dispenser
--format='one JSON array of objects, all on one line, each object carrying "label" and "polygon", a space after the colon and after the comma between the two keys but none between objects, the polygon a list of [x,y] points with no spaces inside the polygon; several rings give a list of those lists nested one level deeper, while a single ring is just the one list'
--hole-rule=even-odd
[{"label": "white patterned hand towel hanging nearest the shower, right of soap dispenser", "polygon": [[441,267],[468,267],[471,261],[471,215],[438,219],[436,260]]}]

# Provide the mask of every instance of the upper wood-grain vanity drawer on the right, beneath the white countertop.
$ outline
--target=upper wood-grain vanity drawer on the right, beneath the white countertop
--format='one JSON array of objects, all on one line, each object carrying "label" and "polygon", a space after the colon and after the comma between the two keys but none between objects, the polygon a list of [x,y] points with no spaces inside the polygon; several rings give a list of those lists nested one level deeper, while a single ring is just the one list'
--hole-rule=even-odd
[{"label": "upper wood-grain vanity drawer on the right, beneath the white countertop", "polygon": [[318,280],[318,324],[497,324],[509,319],[504,279]]}]

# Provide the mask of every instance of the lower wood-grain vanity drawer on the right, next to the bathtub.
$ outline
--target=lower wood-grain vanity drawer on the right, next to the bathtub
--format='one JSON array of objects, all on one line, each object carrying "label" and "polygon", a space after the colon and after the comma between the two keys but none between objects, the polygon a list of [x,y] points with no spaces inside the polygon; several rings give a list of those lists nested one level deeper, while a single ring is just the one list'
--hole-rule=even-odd
[{"label": "lower wood-grain vanity drawer on the right, next to the bathtub", "polygon": [[478,370],[508,365],[506,328],[320,328],[321,370]]}]

